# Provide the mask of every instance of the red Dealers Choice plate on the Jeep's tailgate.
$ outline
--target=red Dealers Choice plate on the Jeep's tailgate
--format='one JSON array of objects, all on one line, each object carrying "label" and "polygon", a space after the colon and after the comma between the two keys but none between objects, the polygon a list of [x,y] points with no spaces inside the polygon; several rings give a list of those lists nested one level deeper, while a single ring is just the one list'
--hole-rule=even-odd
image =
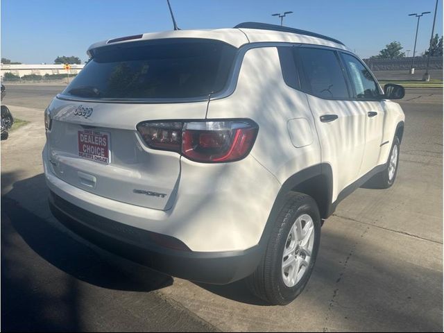
[{"label": "red Dealers Choice plate on the Jeep's tailgate", "polygon": [[110,133],[78,130],[78,155],[95,162],[110,163]]}]

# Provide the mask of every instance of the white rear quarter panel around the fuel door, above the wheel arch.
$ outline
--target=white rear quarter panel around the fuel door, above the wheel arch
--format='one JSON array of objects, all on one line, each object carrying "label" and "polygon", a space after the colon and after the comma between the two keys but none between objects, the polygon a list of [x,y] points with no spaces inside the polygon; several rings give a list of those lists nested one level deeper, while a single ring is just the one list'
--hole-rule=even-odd
[{"label": "white rear quarter panel around the fuel door, above the wheel arch", "polygon": [[229,98],[210,101],[207,117],[254,119],[259,124],[259,134],[250,154],[280,183],[296,170],[321,163],[317,138],[301,148],[291,142],[287,130],[290,119],[305,119],[309,126],[305,131],[309,133],[316,133],[316,128],[305,94],[285,84],[275,47],[246,52],[236,91]]}]

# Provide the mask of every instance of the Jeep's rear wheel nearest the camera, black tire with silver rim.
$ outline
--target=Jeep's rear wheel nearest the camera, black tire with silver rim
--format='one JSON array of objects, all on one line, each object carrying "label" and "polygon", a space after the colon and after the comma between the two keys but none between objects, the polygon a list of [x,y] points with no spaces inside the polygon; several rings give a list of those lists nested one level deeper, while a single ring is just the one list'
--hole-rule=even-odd
[{"label": "Jeep's rear wheel nearest the camera, black tire with silver rim", "polygon": [[[301,223],[296,223],[298,221]],[[294,269],[298,266],[301,267],[301,270],[296,279],[292,279],[292,277],[295,277],[291,274],[293,270],[291,270],[291,266],[284,268],[284,262],[289,263],[293,258],[302,260],[304,256],[307,259],[307,253],[303,247],[298,245],[296,245],[294,251],[291,251],[290,255],[284,256],[284,249],[291,250],[293,240],[298,239],[296,225],[302,226],[302,234],[299,233],[302,237],[299,238],[304,241],[309,239],[307,247],[312,246],[312,248],[311,256],[305,261],[307,266],[296,264],[298,261],[293,262]],[[310,228],[310,225],[312,228]],[[304,230],[306,228],[308,229]],[[311,237],[307,233],[310,230],[312,232]],[[308,238],[303,237],[304,233]],[[300,241],[300,239],[298,240]],[[306,194],[290,192],[287,194],[284,206],[275,220],[264,257],[256,271],[246,278],[248,289],[255,296],[271,305],[289,304],[304,290],[310,278],[318,255],[320,241],[321,216],[315,200]],[[304,271],[302,271],[302,267],[304,267]]]}]

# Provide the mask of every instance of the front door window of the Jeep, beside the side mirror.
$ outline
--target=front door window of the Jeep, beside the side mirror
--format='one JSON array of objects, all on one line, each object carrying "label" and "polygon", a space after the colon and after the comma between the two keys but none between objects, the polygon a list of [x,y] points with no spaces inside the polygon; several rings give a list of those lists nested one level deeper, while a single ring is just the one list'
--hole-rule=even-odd
[{"label": "front door window of the Jeep, beside the side mirror", "polygon": [[380,92],[370,72],[357,58],[342,53],[345,67],[348,69],[357,99],[377,99]]}]

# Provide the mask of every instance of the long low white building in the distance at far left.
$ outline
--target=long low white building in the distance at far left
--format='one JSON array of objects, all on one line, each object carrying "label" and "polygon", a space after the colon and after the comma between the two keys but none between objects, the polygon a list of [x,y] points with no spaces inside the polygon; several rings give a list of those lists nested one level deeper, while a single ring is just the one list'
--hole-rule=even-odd
[{"label": "long low white building in the distance at far left", "polygon": [[63,68],[64,65],[7,65],[7,64],[0,64],[0,76],[3,78],[5,73],[11,73],[17,76],[24,76],[24,75],[41,75],[44,76],[45,74],[78,74],[78,72],[83,69],[85,66],[83,65],[71,65],[71,69],[67,71]]}]

